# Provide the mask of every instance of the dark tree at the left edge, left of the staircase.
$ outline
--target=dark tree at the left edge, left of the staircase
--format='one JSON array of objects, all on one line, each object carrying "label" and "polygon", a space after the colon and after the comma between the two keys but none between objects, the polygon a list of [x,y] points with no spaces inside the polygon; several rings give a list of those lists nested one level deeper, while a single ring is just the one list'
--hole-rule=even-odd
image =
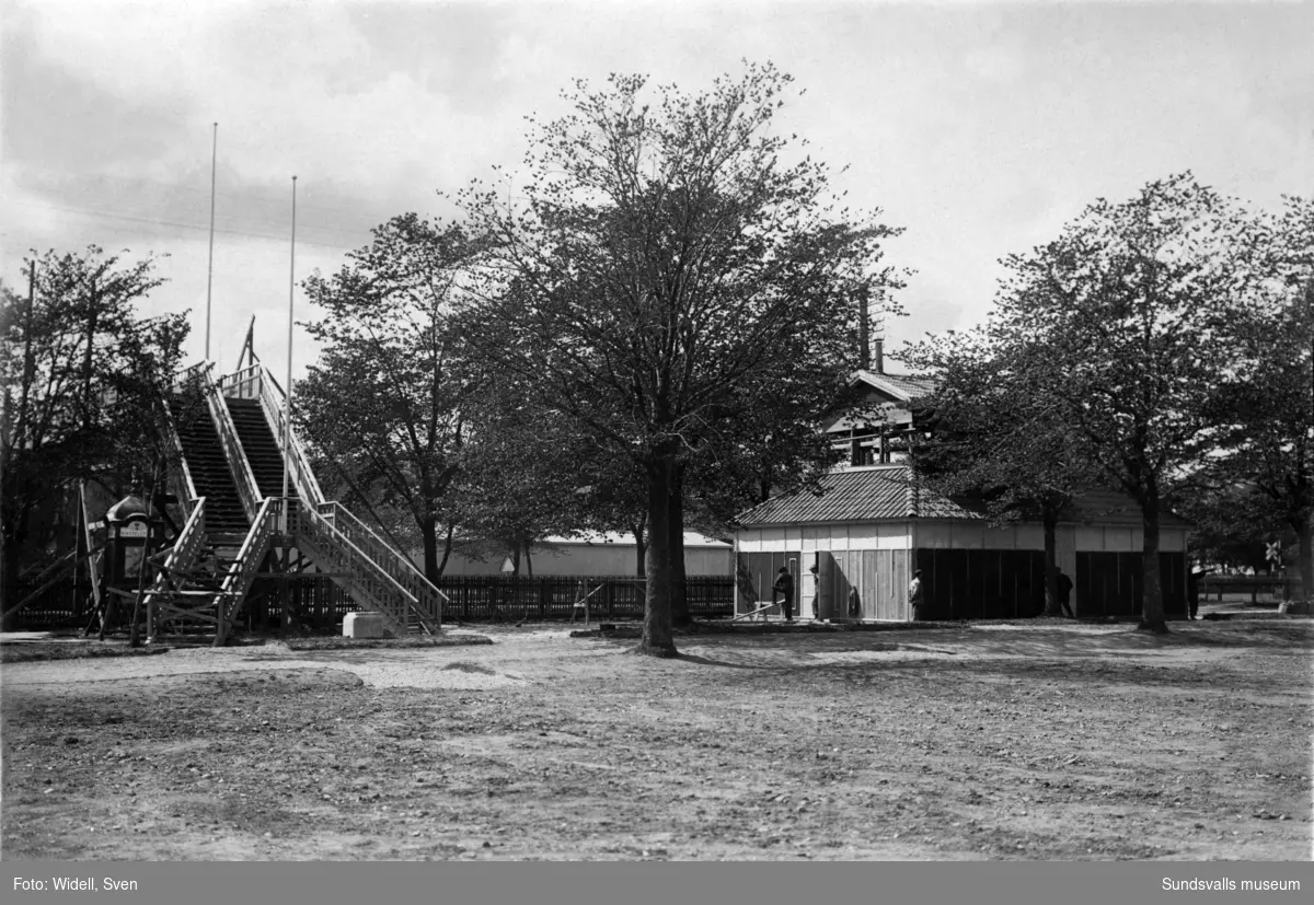
[{"label": "dark tree at the left edge, left of the staircase", "polygon": [[[33,518],[83,479],[147,479],[155,415],[181,356],[187,313],[141,318],[138,299],[162,285],[155,260],[91,246],[25,260],[25,298],[3,290],[4,412],[0,519],[4,598],[13,600]],[[114,401],[116,405],[106,405]],[[141,454],[139,454],[141,453]]]}]

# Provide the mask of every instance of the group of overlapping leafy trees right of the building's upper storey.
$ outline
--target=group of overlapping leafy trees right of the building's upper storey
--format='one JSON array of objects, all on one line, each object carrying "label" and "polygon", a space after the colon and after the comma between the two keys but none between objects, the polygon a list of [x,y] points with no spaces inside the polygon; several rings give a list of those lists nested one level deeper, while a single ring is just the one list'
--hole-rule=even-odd
[{"label": "group of overlapping leafy trees right of the building's upper storey", "polygon": [[1188,173],[1100,200],[1005,259],[987,326],[907,355],[938,378],[918,469],[997,515],[1039,515],[1047,536],[1083,487],[1125,491],[1142,512],[1154,630],[1173,502],[1201,539],[1292,531],[1314,598],[1311,211],[1300,198],[1255,211]]}]

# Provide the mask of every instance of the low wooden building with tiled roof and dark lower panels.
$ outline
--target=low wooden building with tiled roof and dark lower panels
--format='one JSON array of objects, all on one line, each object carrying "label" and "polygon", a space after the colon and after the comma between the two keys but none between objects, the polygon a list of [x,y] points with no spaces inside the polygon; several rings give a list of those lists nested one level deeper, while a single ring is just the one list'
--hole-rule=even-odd
[{"label": "low wooden building with tiled roof and dark lower panels", "polygon": [[[1187,612],[1189,523],[1164,514],[1160,569],[1169,617]],[[1058,527],[1058,566],[1079,617],[1141,609],[1141,512],[1130,498],[1091,491]],[[771,599],[781,566],[795,577],[796,612],[823,620],[909,620],[921,570],[932,619],[1017,619],[1045,603],[1038,523],[992,528],[984,515],[913,481],[908,465],[837,469],[821,493],[775,497],[742,514],[735,535],[736,612]],[[857,591],[853,600],[850,591]],[[855,604],[855,607],[854,607]],[[853,612],[850,613],[850,609]],[[767,611],[778,615],[778,608]]]}]

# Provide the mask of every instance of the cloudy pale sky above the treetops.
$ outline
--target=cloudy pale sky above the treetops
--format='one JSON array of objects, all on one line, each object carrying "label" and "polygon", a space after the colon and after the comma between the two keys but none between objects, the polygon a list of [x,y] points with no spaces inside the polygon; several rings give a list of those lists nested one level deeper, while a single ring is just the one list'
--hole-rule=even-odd
[{"label": "cloudy pale sky above the treetops", "polygon": [[191,309],[201,357],[218,122],[225,369],[252,315],[285,368],[293,175],[301,280],[516,166],[574,77],[794,75],[783,127],[907,229],[892,345],[980,320],[996,261],[1097,197],[1184,169],[1260,206],[1314,192],[1314,3],[0,0],[0,278],[29,248],[167,254],[146,310]]}]

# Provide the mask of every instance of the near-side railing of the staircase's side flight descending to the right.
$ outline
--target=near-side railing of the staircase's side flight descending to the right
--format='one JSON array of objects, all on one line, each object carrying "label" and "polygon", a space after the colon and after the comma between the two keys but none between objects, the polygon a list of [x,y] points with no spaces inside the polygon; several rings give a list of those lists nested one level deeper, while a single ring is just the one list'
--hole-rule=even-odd
[{"label": "near-side railing of the staircase's side flight descending to the right", "polygon": [[289,519],[294,528],[294,544],[310,553],[315,565],[346,578],[348,592],[361,606],[377,609],[397,634],[406,634],[413,627],[422,632],[438,630],[436,620],[426,612],[419,600],[377,562],[347,539],[317,510],[298,506]]}]

